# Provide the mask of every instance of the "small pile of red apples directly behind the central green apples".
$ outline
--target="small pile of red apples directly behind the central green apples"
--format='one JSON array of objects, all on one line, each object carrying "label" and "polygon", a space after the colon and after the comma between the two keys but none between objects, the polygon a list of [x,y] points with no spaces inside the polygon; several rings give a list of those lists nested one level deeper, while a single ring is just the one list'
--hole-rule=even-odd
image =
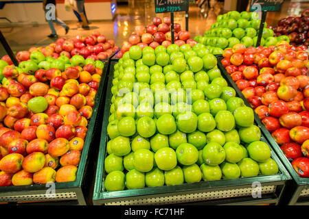
[{"label": "small pile of red apples directly behind the central green apples", "polygon": [[[189,31],[181,29],[179,23],[174,23],[174,43],[181,46],[190,44],[192,47],[197,42],[193,40]],[[137,45],[143,49],[144,47],[152,47],[155,49],[159,45],[168,47],[172,44],[171,20],[169,16],[165,16],[163,21],[159,17],[152,18],[152,24],[144,27],[137,25],[128,40],[122,42],[122,47],[116,57],[120,58],[133,45]]]}]

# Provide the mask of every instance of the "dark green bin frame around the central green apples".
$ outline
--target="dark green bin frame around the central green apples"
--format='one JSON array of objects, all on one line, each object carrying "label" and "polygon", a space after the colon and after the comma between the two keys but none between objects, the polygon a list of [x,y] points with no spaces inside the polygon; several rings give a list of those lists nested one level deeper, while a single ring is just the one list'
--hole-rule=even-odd
[{"label": "dark green bin frame around the central green apples", "polygon": [[[198,183],[183,183],[181,185],[163,185],[154,188],[136,190],[122,190],[106,192],[104,190],[104,158],[106,156],[106,143],[108,135],[106,127],[110,113],[111,86],[113,81],[113,67],[117,60],[111,60],[104,105],[104,117],[100,139],[98,166],[95,175],[95,188],[93,193],[94,205],[166,205],[166,204],[201,204],[201,205],[258,205],[279,203],[286,182],[291,179],[288,171],[271,149],[271,157],[277,162],[279,173],[277,175],[264,175],[239,179],[219,181],[200,181]],[[261,138],[267,142],[264,136]],[[261,196],[253,198],[257,188]]]}]

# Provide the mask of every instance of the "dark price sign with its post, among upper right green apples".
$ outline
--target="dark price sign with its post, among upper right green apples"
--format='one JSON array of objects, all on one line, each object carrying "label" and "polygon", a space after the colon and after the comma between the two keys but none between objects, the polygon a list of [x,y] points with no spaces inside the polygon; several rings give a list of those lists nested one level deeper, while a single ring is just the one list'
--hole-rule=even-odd
[{"label": "dark price sign with its post, among upper right green apples", "polygon": [[[267,12],[279,12],[284,0],[251,0],[249,12],[258,12],[261,18],[256,47],[260,46]],[[262,12],[262,16],[261,16]]]}]

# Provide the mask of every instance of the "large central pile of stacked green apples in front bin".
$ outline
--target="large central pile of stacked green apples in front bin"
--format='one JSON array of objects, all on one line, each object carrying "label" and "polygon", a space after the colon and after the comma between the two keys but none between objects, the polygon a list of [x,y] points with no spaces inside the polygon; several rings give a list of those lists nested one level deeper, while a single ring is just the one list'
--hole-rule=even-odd
[{"label": "large central pile of stacked green apples in front bin", "polygon": [[203,44],[130,47],[111,93],[108,192],[278,172],[253,110]]}]

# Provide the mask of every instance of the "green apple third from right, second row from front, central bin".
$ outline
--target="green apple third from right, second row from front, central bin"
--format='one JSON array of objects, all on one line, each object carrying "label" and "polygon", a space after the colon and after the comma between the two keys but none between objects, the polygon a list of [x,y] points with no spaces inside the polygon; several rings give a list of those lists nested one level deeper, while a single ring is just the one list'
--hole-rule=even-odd
[{"label": "green apple third from right, second row from front, central bin", "polygon": [[225,149],[217,142],[209,142],[202,151],[205,164],[216,166],[225,161]]}]

